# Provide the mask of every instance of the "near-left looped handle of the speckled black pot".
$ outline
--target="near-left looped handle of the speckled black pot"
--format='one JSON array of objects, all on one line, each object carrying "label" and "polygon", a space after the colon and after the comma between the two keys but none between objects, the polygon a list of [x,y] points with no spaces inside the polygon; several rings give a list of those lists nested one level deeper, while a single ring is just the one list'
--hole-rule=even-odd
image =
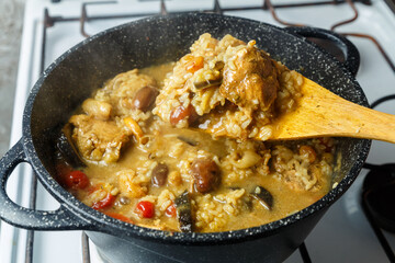
[{"label": "near-left looped handle of the speckled black pot", "polygon": [[10,199],[5,193],[7,181],[14,168],[27,162],[20,139],[0,160],[0,218],[10,225],[34,230],[78,230],[92,229],[92,225],[77,217],[60,205],[57,210],[45,211],[22,207]]}]

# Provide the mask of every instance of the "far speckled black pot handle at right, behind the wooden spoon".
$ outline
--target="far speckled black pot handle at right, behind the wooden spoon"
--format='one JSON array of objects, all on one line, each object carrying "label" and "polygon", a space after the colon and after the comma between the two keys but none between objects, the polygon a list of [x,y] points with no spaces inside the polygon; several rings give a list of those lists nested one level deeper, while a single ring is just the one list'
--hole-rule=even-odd
[{"label": "far speckled black pot handle at right, behind the wooden spoon", "polygon": [[[353,76],[357,76],[359,65],[360,65],[360,54],[359,54],[357,47],[345,36],[339,35],[331,31],[317,28],[317,27],[311,27],[311,26],[291,26],[291,27],[284,27],[284,30],[296,36],[318,37],[321,39],[327,39],[327,41],[331,41],[331,42],[336,43],[337,46],[340,47],[340,49],[342,50],[342,53],[345,54],[345,57],[346,57],[346,61],[342,64]],[[308,42],[308,43],[312,43],[312,42]],[[313,44],[316,45],[315,43],[313,43]],[[324,48],[321,48],[319,46],[317,46],[317,47],[320,48],[321,50],[324,50],[326,54],[329,54]],[[332,56],[331,54],[329,54],[329,55]]]}]

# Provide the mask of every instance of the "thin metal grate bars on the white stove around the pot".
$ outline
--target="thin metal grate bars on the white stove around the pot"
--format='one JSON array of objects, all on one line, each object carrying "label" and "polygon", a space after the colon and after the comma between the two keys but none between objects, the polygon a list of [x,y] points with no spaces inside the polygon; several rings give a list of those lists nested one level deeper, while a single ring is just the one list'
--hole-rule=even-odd
[{"label": "thin metal grate bars on the white stove around the pot", "polygon": [[[392,9],[395,13],[395,0],[385,0],[390,8],[394,8]],[[60,2],[60,0],[52,0],[52,2]],[[357,20],[358,18],[358,10],[354,7],[354,2],[360,2],[366,5],[372,4],[371,0],[328,0],[328,1],[306,1],[306,2],[302,2],[302,3],[289,3],[289,4],[272,4],[271,0],[263,0],[262,4],[259,7],[246,7],[246,8],[221,8],[219,1],[218,0],[214,0],[214,8],[212,10],[200,10],[201,12],[214,12],[214,13],[224,13],[224,12],[229,12],[229,11],[242,11],[242,10],[257,10],[257,9],[261,9],[261,10],[269,10],[272,14],[272,16],[274,18],[274,20],[276,20],[279,23],[287,25],[287,26],[303,26],[302,24],[295,24],[295,23],[289,23],[285,21],[282,21],[281,19],[279,19],[279,16],[275,13],[276,9],[284,9],[284,8],[301,8],[301,7],[311,7],[311,5],[325,5],[325,4],[345,4],[348,3],[353,12],[354,15],[351,19],[348,19],[346,21],[341,21],[336,23],[335,25],[331,26],[331,30],[335,30],[336,27],[343,25],[343,24],[348,24],[351,23],[353,21]],[[101,2],[86,2],[82,3],[82,10],[81,10],[81,16],[76,16],[76,18],[64,18],[64,16],[52,16],[49,15],[49,12],[47,9],[44,10],[44,23],[43,23],[43,39],[42,39],[42,48],[41,48],[41,72],[44,71],[44,67],[45,67],[45,50],[46,50],[46,45],[47,45],[47,41],[46,41],[46,34],[47,34],[47,28],[54,26],[56,23],[60,23],[60,22],[69,22],[69,21],[80,21],[80,33],[84,36],[84,37],[89,37],[90,35],[86,32],[84,30],[84,25],[86,23],[88,23],[89,21],[94,21],[94,20],[109,20],[109,19],[126,19],[126,18],[139,18],[139,16],[149,16],[149,15],[157,15],[157,12],[153,12],[153,13],[138,13],[138,14],[125,14],[125,15],[97,15],[97,16],[89,16],[88,12],[87,12],[87,7],[90,4],[108,4],[108,3],[116,3],[116,1],[101,1]],[[168,14],[169,12],[167,11],[166,8],[166,2],[165,0],[160,0],[159,2],[160,4],[160,14]],[[381,52],[381,54],[383,55],[383,57],[385,58],[385,60],[387,61],[388,66],[393,69],[393,71],[395,72],[395,66],[392,62],[392,60],[390,59],[390,57],[387,56],[387,54],[385,53],[385,50],[382,48],[382,46],[380,45],[380,43],[370,35],[366,34],[361,34],[361,33],[341,33],[345,36],[354,36],[354,37],[363,37],[363,38],[368,38],[370,41],[372,41],[375,46],[379,48],[379,50]],[[382,98],[380,100],[377,100],[375,103],[372,104],[372,106],[376,106],[380,103],[387,101],[387,100],[394,100],[395,99],[395,94],[393,95],[388,95],[385,98]],[[365,164],[365,168],[368,169],[372,169],[375,165],[372,164]],[[37,195],[37,179],[36,175],[33,174],[33,180],[32,180],[32,185],[31,185],[31,196],[30,196],[30,208],[35,208],[36,205],[36,195]],[[395,262],[395,258],[394,258],[394,252],[392,251],[391,247],[388,245],[387,241],[385,240],[385,237],[381,230],[381,228],[377,226],[377,224],[374,221],[374,219],[372,219],[371,217],[371,213],[369,209],[365,209],[366,211],[366,217],[369,218],[372,228],[374,229],[377,239],[380,241],[380,243],[382,244],[385,253],[388,256],[388,260],[391,262]],[[83,263],[90,263],[90,249],[89,249],[89,238],[88,236],[82,232],[82,262]],[[34,230],[29,230],[27,231],[27,240],[26,240],[26,254],[25,254],[25,262],[26,263],[32,263],[33,262],[33,245],[34,245]],[[303,260],[303,262],[305,263],[311,263],[311,256],[308,254],[307,248],[305,245],[305,243],[302,243],[301,247],[298,248],[300,253],[301,253],[301,258]]]}]

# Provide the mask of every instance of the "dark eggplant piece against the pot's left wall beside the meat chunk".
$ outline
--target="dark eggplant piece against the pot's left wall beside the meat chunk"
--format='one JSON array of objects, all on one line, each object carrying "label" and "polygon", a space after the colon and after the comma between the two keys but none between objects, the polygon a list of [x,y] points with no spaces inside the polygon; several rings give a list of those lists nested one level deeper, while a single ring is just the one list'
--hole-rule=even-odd
[{"label": "dark eggplant piece against the pot's left wall beside the meat chunk", "polygon": [[69,163],[72,168],[86,167],[86,163],[82,161],[75,144],[71,140],[72,125],[66,124],[65,127],[60,130],[60,135],[56,140],[56,148],[59,150],[61,157]]}]

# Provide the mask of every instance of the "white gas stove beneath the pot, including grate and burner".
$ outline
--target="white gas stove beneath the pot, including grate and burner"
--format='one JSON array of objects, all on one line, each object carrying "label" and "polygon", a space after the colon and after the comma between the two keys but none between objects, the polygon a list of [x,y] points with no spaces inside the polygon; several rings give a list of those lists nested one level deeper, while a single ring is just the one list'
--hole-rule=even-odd
[{"label": "white gas stove beneath the pot, including grate and burner", "polygon": [[[43,69],[65,50],[122,23],[184,11],[218,12],[278,26],[309,25],[345,34],[360,52],[357,80],[369,101],[375,110],[395,114],[393,0],[27,0],[11,145],[22,136],[22,115],[30,89]],[[395,235],[371,222],[370,213],[366,217],[363,211],[366,206],[361,203],[362,193],[369,187],[363,187],[366,174],[371,170],[382,171],[376,170],[380,164],[394,162],[395,146],[373,141],[365,169],[286,262],[394,262],[391,250],[395,250]],[[36,209],[56,209],[59,205],[32,174],[29,165],[18,167],[9,181],[10,197]],[[368,209],[369,204],[368,199]],[[0,262],[4,263],[103,262],[81,231],[33,232],[2,222],[0,248]]]}]

